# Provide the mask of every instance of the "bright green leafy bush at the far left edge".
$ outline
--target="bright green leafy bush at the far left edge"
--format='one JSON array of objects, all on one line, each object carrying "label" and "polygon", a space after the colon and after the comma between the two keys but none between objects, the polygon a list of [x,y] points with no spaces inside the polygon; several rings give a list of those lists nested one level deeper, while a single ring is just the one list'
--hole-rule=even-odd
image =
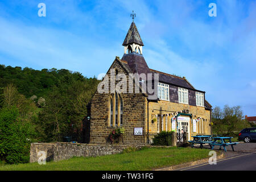
[{"label": "bright green leafy bush at the far left edge", "polygon": [[0,159],[9,164],[29,162],[30,126],[19,120],[15,106],[0,111]]}]

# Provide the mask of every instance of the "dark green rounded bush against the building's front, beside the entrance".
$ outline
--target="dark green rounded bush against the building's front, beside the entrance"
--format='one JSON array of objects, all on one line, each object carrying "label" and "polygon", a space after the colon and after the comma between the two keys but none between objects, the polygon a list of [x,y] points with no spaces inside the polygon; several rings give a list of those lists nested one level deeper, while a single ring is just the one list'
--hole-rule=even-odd
[{"label": "dark green rounded bush against the building's front, beside the entrance", "polygon": [[172,145],[172,133],[174,131],[161,131],[153,138],[153,146],[171,146]]}]

